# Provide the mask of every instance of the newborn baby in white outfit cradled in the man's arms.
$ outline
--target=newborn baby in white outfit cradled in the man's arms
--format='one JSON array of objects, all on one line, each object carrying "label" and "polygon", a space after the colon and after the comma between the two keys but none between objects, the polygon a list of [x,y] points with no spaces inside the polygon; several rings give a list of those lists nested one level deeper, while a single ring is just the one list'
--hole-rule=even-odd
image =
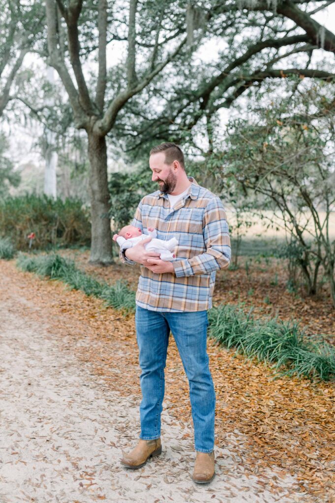
[{"label": "newborn baby in white outfit cradled in the man's arms", "polygon": [[151,236],[152,240],[145,245],[146,250],[156,251],[156,253],[160,254],[161,260],[166,262],[175,258],[175,255],[171,251],[178,244],[177,239],[175,237],[172,237],[168,241],[157,239],[157,231],[154,227],[148,227],[148,234],[144,234],[140,227],[126,225],[122,227],[118,234],[113,235],[113,241],[116,241],[121,249],[125,250],[126,248],[135,246],[143,239],[147,239],[148,236]]}]

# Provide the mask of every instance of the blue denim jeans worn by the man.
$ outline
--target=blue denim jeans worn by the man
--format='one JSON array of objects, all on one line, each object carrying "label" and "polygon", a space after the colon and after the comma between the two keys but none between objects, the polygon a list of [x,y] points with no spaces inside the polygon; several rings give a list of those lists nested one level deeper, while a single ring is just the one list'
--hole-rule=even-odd
[{"label": "blue denim jeans worn by the man", "polygon": [[142,370],[140,438],[153,440],[161,435],[164,368],[171,330],[189,382],[195,450],[213,451],[215,391],[207,355],[207,311],[151,311],[137,305],[135,321]]}]

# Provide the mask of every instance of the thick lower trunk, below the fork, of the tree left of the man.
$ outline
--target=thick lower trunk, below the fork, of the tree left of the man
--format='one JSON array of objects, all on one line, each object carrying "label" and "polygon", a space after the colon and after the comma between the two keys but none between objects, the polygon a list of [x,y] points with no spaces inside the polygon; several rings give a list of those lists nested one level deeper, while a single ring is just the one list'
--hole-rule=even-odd
[{"label": "thick lower trunk, below the fork, of the tree left of the man", "polygon": [[88,132],[91,192],[91,264],[112,264],[112,236],[109,219],[109,192],[107,185],[107,148],[104,136]]}]

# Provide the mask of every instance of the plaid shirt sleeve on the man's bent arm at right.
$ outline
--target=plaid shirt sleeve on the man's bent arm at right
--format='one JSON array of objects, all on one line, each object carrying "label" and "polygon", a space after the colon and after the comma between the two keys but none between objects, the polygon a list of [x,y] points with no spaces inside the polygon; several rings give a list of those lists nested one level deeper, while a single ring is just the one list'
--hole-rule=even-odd
[{"label": "plaid shirt sleeve on the man's bent arm at right", "polygon": [[177,277],[209,274],[229,266],[231,247],[227,216],[219,197],[206,206],[203,232],[206,253],[172,262]]}]

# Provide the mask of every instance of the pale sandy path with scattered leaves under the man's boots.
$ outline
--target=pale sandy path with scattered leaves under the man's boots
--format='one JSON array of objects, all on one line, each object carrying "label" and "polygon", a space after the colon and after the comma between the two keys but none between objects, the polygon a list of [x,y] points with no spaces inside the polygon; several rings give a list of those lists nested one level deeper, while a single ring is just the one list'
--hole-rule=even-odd
[{"label": "pale sandy path with scattered leaves under the man's boots", "polygon": [[[121,449],[137,442],[140,397],[108,389],[70,344],[68,351],[64,339],[59,344],[42,313],[40,323],[29,319],[27,308],[38,306],[25,300],[24,291],[11,293],[10,278],[1,280],[1,503],[307,501],[292,493],[294,477],[281,478],[276,467],[266,478],[250,475],[228,449],[216,448],[212,484],[194,484],[192,430],[169,416],[168,403],[162,455],[140,470],[121,467]],[[243,436],[235,431],[230,440],[240,444]]]}]

